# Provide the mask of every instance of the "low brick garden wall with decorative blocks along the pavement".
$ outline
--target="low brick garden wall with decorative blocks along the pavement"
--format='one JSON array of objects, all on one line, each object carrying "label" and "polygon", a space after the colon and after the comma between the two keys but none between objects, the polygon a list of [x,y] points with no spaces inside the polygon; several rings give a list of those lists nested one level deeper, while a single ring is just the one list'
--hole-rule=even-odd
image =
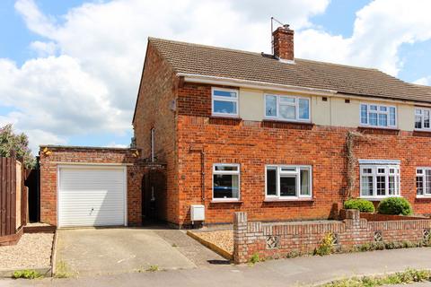
[{"label": "low brick garden wall with decorative blocks along the pavement", "polygon": [[234,213],[233,261],[259,257],[288,257],[293,252],[312,253],[323,237],[332,233],[334,245],[348,250],[371,242],[422,242],[429,239],[431,220],[368,222],[357,210],[347,210],[343,221],[248,222],[247,213]]}]

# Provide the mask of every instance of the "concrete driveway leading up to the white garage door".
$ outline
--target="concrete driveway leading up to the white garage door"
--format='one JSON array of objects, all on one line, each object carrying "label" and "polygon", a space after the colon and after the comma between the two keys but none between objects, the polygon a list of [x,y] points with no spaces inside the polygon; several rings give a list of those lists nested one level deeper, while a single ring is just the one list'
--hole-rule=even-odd
[{"label": "concrete driveway leading up to the white garage door", "polygon": [[196,267],[154,230],[131,228],[58,230],[56,261],[57,271],[79,275]]}]

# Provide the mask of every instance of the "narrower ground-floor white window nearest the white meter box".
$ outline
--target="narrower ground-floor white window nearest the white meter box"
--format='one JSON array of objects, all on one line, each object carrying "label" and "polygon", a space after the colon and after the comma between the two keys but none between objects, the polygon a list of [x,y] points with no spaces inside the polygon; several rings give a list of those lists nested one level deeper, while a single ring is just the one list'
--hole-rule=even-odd
[{"label": "narrower ground-floor white window nearest the white meter box", "polygon": [[213,200],[240,199],[240,165],[216,163],[213,165]]}]

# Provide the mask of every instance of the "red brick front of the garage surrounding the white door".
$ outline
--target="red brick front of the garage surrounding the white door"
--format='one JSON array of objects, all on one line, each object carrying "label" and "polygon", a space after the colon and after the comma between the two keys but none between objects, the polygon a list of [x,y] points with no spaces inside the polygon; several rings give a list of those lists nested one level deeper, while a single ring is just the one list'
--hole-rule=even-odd
[{"label": "red brick front of the garage surrounding the white door", "polygon": [[[41,147],[42,151],[44,147]],[[141,224],[141,178],[143,168],[130,149],[49,147],[40,152],[40,221],[57,225],[57,167],[59,164],[120,163],[128,165],[128,225]]]}]

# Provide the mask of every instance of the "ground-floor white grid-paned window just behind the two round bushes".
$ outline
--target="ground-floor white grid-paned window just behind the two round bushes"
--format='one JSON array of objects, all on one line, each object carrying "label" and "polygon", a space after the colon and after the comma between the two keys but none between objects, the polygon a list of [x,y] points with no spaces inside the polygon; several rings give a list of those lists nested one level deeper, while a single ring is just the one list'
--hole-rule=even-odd
[{"label": "ground-floor white grid-paned window just behind the two round bushes", "polygon": [[400,196],[400,165],[360,165],[361,197]]}]

